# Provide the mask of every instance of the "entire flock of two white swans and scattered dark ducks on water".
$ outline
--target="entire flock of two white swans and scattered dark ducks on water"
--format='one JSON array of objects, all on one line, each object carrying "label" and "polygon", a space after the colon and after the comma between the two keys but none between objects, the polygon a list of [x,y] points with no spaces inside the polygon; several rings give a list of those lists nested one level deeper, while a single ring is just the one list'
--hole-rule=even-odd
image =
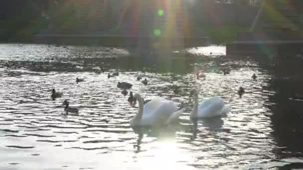
[{"label": "entire flock of two white swans and scattered dark ducks on water", "polygon": [[[229,72],[224,71],[224,75],[229,74]],[[119,73],[108,74],[108,78],[112,78],[115,76],[119,76]],[[206,79],[204,74],[199,75],[196,73],[196,79],[203,78]],[[137,77],[137,81],[141,81],[142,77]],[[257,80],[256,74],[252,76],[254,81]],[[76,83],[84,82],[84,79],[76,78]],[[148,80],[144,79],[141,81],[142,84],[148,85]],[[123,89],[122,94],[125,96],[128,94],[127,89],[132,88],[132,84],[127,82],[118,82],[117,87]],[[180,88],[174,88],[174,92],[177,93]],[[240,97],[245,93],[244,88],[241,86],[239,87],[238,94]],[[52,89],[51,98],[55,100],[63,95],[62,92],[57,92],[55,89]],[[210,118],[210,117],[217,117],[226,115],[230,109],[230,104],[224,104],[223,99],[218,96],[211,97],[209,99],[204,100],[202,103],[199,103],[198,91],[192,89],[190,91],[190,99],[194,98],[193,109],[190,114],[191,119],[198,119],[198,118]],[[152,100],[144,100],[144,98],[139,94],[133,94],[130,91],[128,102],[135,106],[136,103],[139,103],[138,113],[131,119],[131,126],[154,126],[154,125],[167,125],[183,114],[183,108],[178,107],[173,101],[158,97]],[[78,114],[79,109],[76,107],[69,106],[68,100],[63,102],[64,111],[66,114],[75,115]]]}]

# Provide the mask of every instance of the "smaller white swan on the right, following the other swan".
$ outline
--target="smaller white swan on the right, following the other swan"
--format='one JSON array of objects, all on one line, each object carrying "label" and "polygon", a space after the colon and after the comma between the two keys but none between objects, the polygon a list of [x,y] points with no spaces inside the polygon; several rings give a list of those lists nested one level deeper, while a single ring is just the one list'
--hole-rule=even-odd
[{"label": "smaller white swan on the right, following the other swan", "polygon": [[198,91],[195,89],[191,90],[190,96],[192,95],[195,103],[190,114],[191,119],[223,116],[230,111],[231,105],[224,105],[223,99],[218,96],[206,99],[198,105]]}]

